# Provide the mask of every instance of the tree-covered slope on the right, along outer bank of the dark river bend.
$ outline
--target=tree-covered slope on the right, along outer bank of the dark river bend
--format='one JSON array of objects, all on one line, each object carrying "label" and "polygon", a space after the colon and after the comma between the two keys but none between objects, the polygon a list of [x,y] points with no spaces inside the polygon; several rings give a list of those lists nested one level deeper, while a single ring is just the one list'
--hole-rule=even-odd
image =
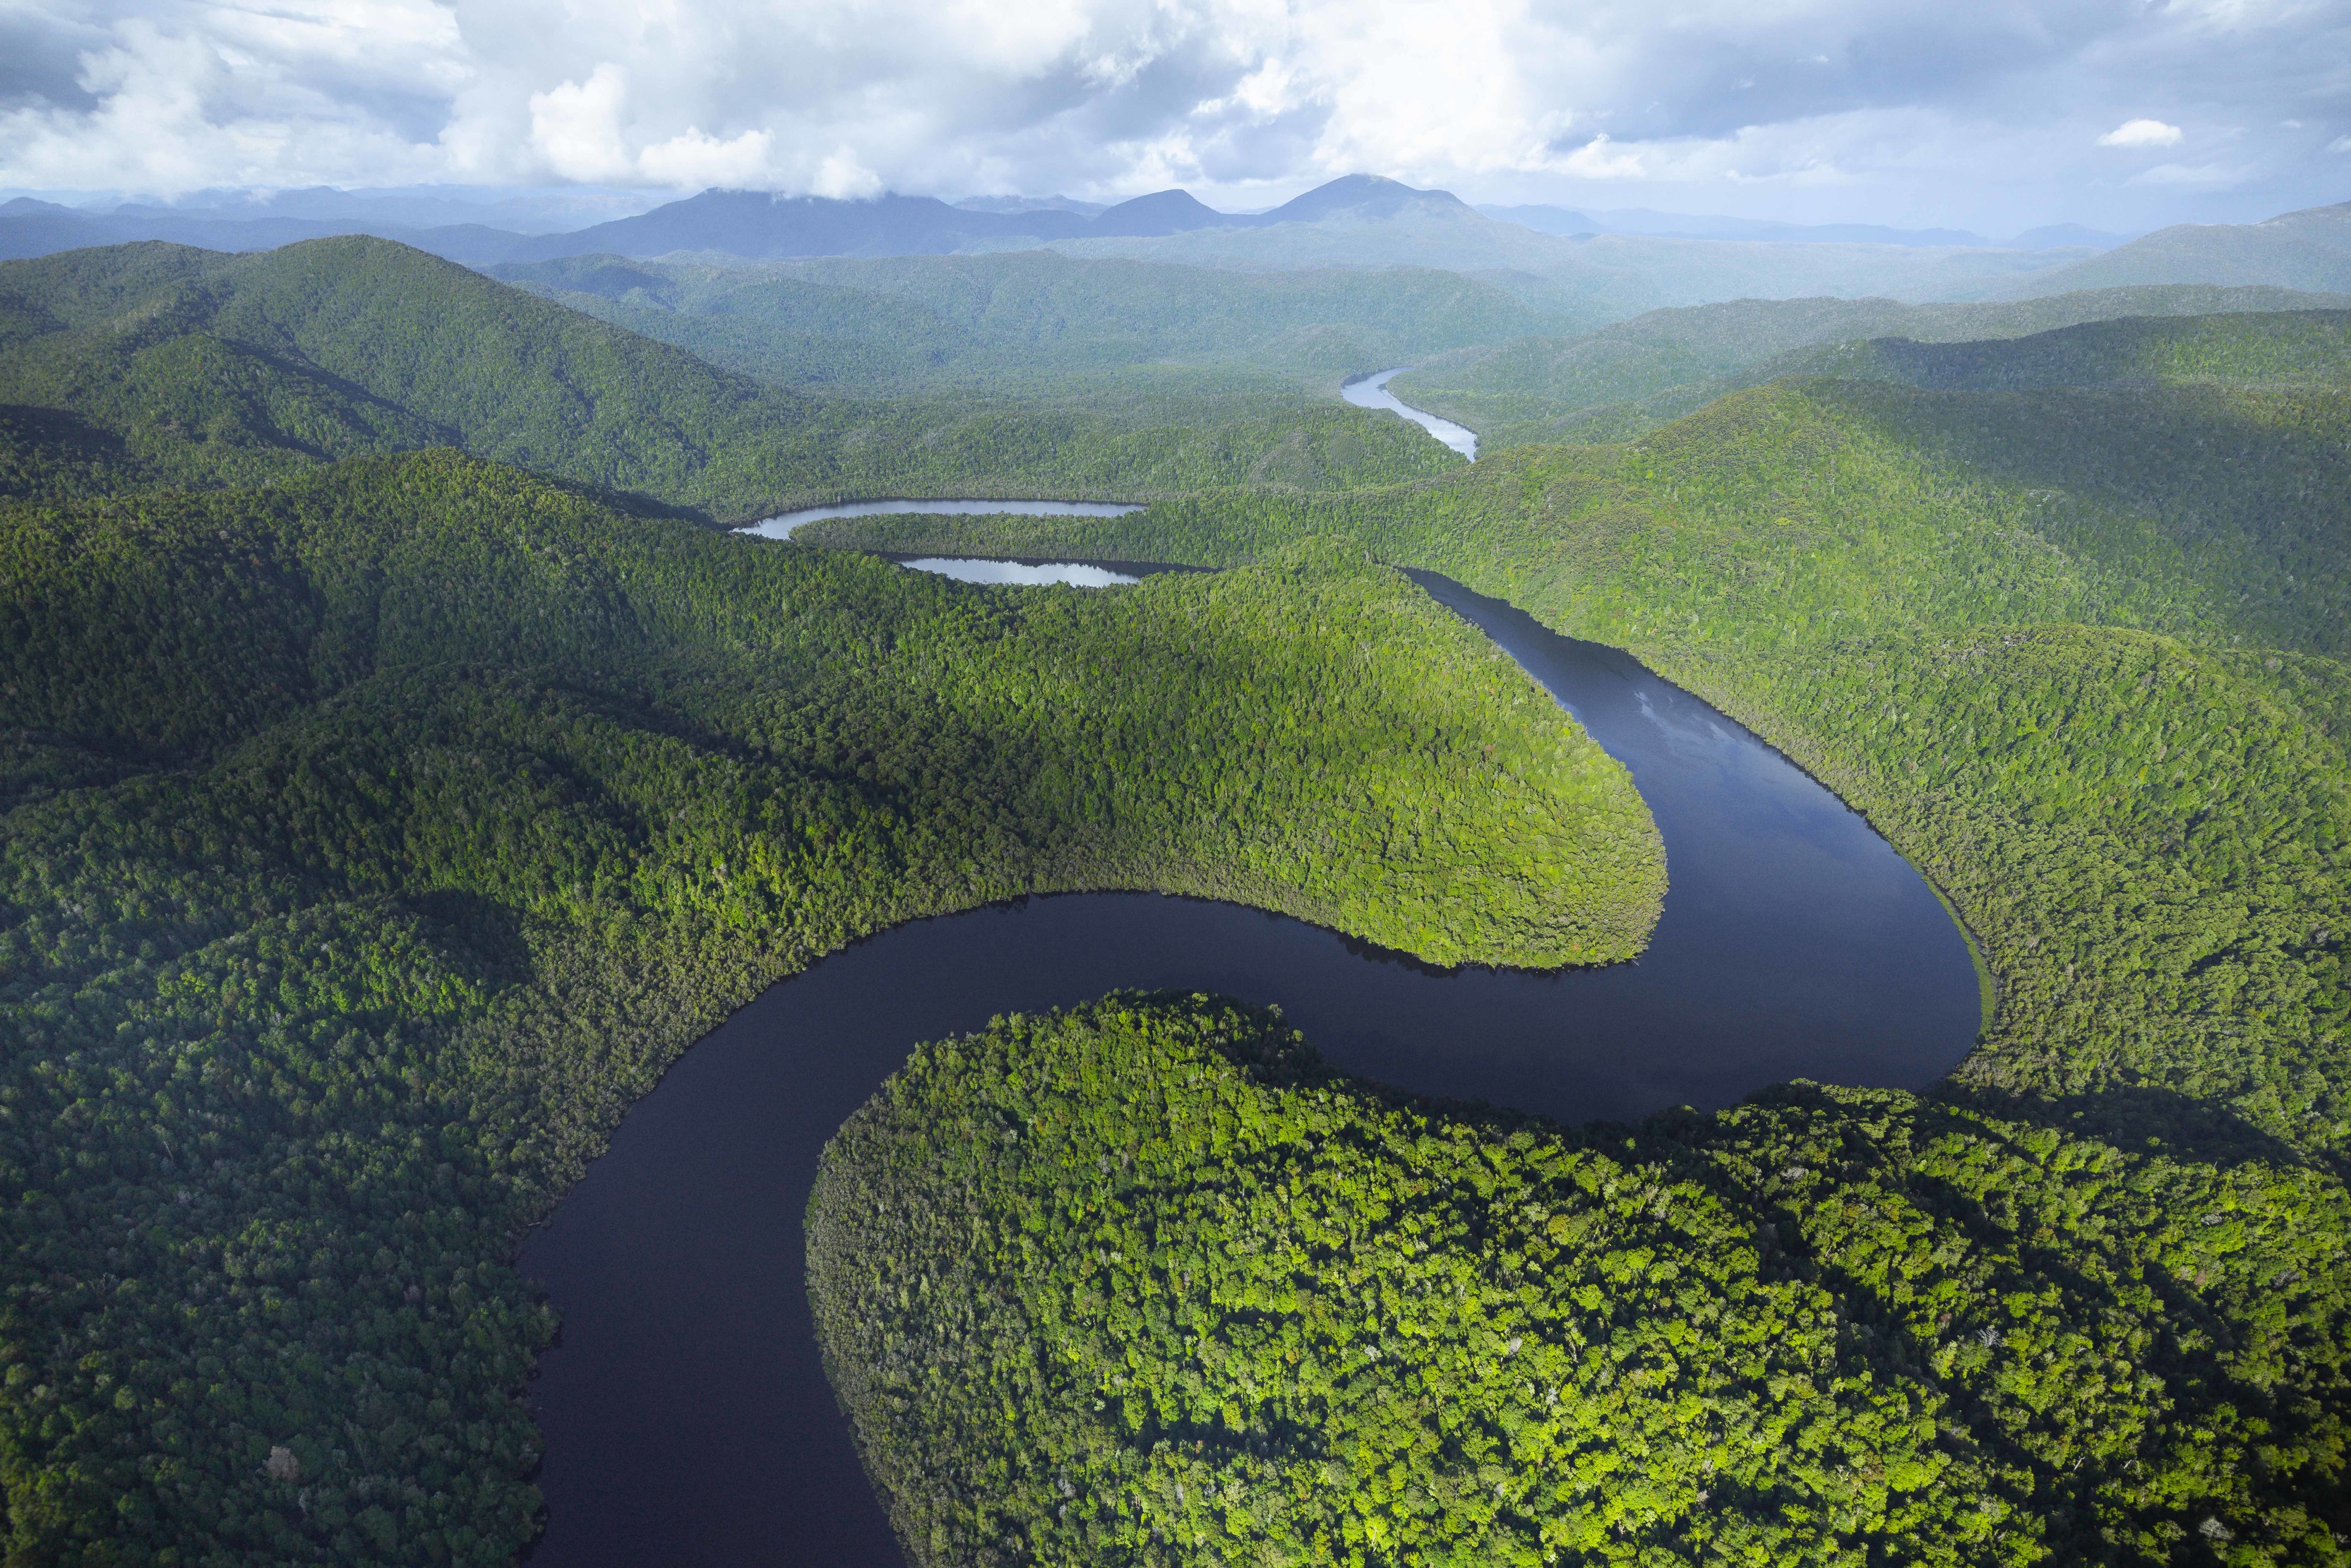
[{"label": "tree-covered slope on the right, along outer bank of the dark river bend", "polygon": [[2144,1086],[2337,1159],[2342,404],[2165,437],[2149,404],[2102,397],[1775,383],[1625,447],[1500,454],[1326,505],[919,527],[924,548],[1192,562],[1345,529],[1634,649],[1954,898],[2001,978],[1968,1077]]}]

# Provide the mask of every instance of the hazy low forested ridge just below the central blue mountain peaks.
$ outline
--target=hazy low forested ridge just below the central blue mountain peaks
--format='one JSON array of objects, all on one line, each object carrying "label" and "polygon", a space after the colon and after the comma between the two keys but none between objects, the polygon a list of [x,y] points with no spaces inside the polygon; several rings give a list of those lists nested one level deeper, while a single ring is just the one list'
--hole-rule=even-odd
[{"label": "hazy low forested ridge just below the central blue mountain peaks", "polygon": [[496,275],[726,369],[856,393],[1053,397],[1072,378],[1178,364],[1335,395],[1364,369],[1559,327],[1507,289],[1427,268],[1232,273],[1016,252],[773,266],[581,256]]}]

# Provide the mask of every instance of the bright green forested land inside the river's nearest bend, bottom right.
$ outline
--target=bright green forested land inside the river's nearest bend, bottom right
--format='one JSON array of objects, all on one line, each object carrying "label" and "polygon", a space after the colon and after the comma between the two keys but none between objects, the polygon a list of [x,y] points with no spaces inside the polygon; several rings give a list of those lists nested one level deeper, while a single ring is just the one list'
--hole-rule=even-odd
[{"label": "bright green forested land inside the river's nearest bend, bottom right", "polygon": [[943,1563],[2344,1561],[2342,1187],[1909,1095],[1563,1133],[1279,1018],[924,1046],[809,1204]]}]

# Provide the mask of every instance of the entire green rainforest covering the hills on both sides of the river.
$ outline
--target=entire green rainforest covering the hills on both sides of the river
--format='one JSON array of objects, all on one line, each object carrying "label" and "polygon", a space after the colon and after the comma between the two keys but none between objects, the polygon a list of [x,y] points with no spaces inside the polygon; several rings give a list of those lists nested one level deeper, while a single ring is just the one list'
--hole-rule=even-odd
[{"label": "entire green rainforest covering the hills on both sides of the river", "polygon": [[[1627,776],[1396,567],[1784,748],[1996,1016],[1928,1095],[1582,1131],[1206,997],[924,1046],[809,1258],[915,1561],[2346,1559],[2330,301],[1672,313],[1556,355],[1721,383],[1695,414],[1462,465],[1232,360],[1514,320],[1444,277],[628,266],[534,287],[741,317],[766,378],[386,242],[0,266],[7,1561],[508,1561],[555,1331],[517,1234],[891,922],[1154,886],[1639,954]],[[1253,315],[1187,336],[1208,296]],[[811,324],[842,383],[1032,383],[776,386]],[[802,538],[1227,571],[985,590],[705,527],[875,489],[1154,505]]]}]

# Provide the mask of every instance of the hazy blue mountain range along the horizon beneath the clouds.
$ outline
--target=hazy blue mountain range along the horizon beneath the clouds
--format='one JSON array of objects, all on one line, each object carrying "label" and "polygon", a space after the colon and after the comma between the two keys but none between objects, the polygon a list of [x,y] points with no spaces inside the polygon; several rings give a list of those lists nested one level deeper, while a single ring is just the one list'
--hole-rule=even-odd
[{"label": "hazy blue mountain range along the horizon beneath the clouds", "polygon": [[[625,205],[623,193],[588,197]],[[1448,190],[1349,174],[1270,212],[1218,212],[1185,190],[1114,207],[1070,197],[929,195],[837,200],[703,190],[585,228],[543,228],[562,202],[491,207],[416,193],[277,193],[266,202],[125,205],[85,212],[0,205],[0,259],[127,240],[273,249],[369,233],[475,268],[574,256],[694,256],[708,263],[813,256],[943,256],[1053,249],[1065,256],[1223,270],[1439,268],[1507,289],[1568,327],[1730,299],[2029,299],[2118,284],[2351,287],[2351,205],[2243,226],[2175,226],[2139,240],[2048,226],[1994,244],[1944,228],[1768,223],[1648,209],[1472,207]],[[576,212],[578,205],[571,207]],[[496,214],[508,226],[463,219]]]}]

